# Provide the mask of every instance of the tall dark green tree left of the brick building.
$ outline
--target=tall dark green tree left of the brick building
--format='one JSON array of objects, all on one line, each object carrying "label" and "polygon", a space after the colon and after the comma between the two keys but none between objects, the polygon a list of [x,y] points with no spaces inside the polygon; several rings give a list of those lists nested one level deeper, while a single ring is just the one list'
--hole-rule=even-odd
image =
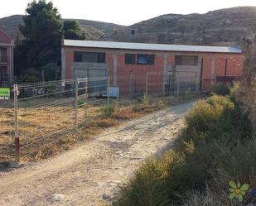
[{"label": "tall dark green tree left of the brick building", "polygon": [[60,65],[61,28],[60,14],[52,2],[33,1],[27,5],[24,25],[19,27],[27,48],[27,65],[42,71],[49,63]]}]

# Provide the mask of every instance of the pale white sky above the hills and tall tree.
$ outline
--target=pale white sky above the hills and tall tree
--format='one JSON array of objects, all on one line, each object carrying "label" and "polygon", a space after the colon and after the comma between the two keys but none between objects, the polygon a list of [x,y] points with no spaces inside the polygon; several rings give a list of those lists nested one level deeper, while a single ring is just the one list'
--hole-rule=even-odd
[{"label": "pale white sky above the hills and tall tree", "polygon": [[[48,1],[48,0],[47,0]],[[30,0],[1,2],[0,17],[25,14]],[[256,6],[256,0],[52,0],[61,17],[131,25],[167,13],[204,13],[237,6]]]}]

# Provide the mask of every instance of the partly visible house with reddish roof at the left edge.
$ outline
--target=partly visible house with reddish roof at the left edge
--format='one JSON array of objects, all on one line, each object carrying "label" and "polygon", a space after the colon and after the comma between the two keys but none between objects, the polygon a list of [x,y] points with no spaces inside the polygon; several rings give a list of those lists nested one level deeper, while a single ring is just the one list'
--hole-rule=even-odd
[{"label": "partly visible house with reddish roof at the left edge", "polygon": [[0,30],[0,87],[13,80],[13,41]]}]

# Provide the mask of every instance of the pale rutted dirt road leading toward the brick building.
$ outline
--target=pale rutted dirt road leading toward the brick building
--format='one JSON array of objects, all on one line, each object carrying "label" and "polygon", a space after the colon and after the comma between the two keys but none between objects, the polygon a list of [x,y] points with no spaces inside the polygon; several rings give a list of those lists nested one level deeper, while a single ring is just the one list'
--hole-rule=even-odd
[{"label": "pale rutted dirt road leading toward the brick building", "polygon": [[98,205],[109,201],[147,156],[170,146],[192,103],[106,130],[51,160],[0,174],[0,205]]}]

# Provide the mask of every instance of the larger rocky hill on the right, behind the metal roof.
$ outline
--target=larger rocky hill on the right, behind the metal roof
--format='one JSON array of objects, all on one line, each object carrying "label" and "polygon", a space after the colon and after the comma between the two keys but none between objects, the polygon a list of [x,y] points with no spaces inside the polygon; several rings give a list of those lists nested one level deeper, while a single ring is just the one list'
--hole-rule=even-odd
[{"label": "larger rocky hill on the right, behind the metal roof", "polygon": [[115,31],[116,41],[235,45],[256,32],[256,7],[232,7],[205,14],[167,14]]}]

